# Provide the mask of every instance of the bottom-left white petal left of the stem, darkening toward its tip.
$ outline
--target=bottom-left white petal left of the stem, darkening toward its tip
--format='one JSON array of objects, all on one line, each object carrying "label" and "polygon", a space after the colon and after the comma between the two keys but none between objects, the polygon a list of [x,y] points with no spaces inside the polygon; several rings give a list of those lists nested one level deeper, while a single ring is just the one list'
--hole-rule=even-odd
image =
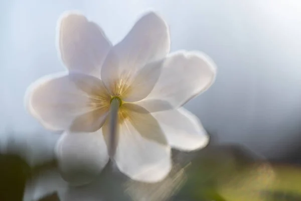
[{"label": "bottom-left white petal left of the stem, darkening toward its tip", "polygon": [[91,182],[109,160],[101,129],[94,133],[64,133],[56,146],[62,177],[73,185]]}]

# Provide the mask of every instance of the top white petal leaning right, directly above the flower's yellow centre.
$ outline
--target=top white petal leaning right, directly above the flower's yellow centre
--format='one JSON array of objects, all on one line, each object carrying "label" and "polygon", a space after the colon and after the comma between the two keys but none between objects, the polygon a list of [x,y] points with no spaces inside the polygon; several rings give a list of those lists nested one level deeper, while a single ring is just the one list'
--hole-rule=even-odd
[{"label": "top white petal leaning right, directly above the flower's yellow centre", "polygon": [[[163,59],[170,50],[169,29],[166,23],[155,13],[144,15],[132,28],[129,34],[109,52],[101,69],[101,78],[107,89],[114,95],[120,95],[125,89],[120,89],[119,85],[126,89],[136,79],[138,85],[149,86],[146,95],[153,88],[154,84],[144,84],[141,78],[146,78],[144,74],[153,73],[149,80],[152,83],[158,79],[158,72],[148,68],[161,69],[158,65],[148,65],[140,71],[146,64]],[[140,76],[139,76],[140,75]],[[137,78],[135,78],[138,76]],[[148,81],[149,82],[149,81]],[[143,84],[142,84],[143,83]],[[130,87],[129,87],[130,89]],[[134,91],[134,90],[132,90]],[[142,90],[140,90],[142,93]],[[137,101],[145,94],[134,94],[130,101]]]}]

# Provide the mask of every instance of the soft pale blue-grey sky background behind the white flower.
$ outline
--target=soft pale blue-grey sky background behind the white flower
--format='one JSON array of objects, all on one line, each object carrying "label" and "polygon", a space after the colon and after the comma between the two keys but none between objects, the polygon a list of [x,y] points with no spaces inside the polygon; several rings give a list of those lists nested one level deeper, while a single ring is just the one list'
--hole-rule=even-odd
[{"label": "soft pale blue-grey sky background behind the white flower", "polygon": [[44,143],[52,148],[56,137],[25,111],[23,96],[37,78],[63,70],[56,22],[62,12],[74,9],[98,23],[113,43],[143,11],[157,11],[170,25],[172,51],[204,51],[218,66],[215,84],[186,105],[213,139],[243,143],[269,157],[300,145],[299,0],[2,0],[2,144],[9,128],[34,150],[44,149]]}]

